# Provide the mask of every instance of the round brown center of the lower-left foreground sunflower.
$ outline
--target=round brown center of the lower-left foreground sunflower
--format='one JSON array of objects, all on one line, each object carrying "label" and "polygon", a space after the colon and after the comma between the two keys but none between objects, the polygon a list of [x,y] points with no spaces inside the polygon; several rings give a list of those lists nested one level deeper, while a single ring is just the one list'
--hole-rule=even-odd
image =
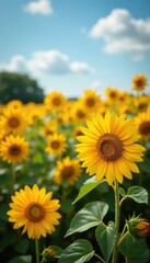
[{"label": "round brown center of the lower-left foreground sunflower", "polygon": [[45,217],[45,209],[41,204],[32,203],[25,209],[25,217],[33,222],[42,221]]}]

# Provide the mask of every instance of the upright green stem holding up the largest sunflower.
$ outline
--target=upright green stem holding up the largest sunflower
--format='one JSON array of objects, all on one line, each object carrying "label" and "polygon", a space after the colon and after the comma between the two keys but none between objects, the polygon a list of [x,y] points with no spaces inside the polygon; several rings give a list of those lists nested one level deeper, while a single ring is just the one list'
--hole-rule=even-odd
[{"label": "upright green stem holding up the largest sunflower", "polygon": [[112,263],[116,263],[116,262],[117,262],[117,254],[118,254],[117,243],[118,243],[118,231],[119,231],[119,191],[118,191],[118,182],[117,182],[117,180],[115,180],[114,193],[115,193],[115,228],[116,228],[116,242],[115,242],[115,248],[114,248],[114,252],[113,252]]}]

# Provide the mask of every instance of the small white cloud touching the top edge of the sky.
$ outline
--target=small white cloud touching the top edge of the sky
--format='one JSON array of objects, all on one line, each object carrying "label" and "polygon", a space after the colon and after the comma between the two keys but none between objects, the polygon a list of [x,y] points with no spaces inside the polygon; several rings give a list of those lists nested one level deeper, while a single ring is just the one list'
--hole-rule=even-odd
[{"label": "small white cloud touching the top edge of the sky", "polygon": [[24,10],[32,14],[41,13],[41,14],[51,14],[53,8],[50,0],[34,0],[30,1],[27,4],[24,5]]}]

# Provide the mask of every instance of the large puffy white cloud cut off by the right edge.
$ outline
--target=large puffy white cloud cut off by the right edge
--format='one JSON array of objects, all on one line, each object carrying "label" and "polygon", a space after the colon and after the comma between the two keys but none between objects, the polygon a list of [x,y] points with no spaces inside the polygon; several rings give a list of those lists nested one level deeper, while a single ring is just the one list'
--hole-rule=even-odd
[{"label": "large puffy white cloud cut off by the right edge", "polygon": [[114,9],[91,28],[90,36],[105,41],[106,53],[131,53],[137,59],[150,52],[150,18],[135,19],[126,9]]}]

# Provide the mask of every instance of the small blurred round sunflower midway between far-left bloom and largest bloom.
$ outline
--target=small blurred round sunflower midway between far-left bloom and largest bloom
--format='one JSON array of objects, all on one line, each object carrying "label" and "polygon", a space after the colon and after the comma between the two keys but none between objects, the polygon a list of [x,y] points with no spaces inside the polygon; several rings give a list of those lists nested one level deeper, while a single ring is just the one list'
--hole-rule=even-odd
[{"label": "small blurred round sunflower midway between far-left bloom and largest bloom", "polygon": [[54,134],[48,137],[46,152],[51,155],[61,155],[66,150],[66,137],[62,134]]}]

